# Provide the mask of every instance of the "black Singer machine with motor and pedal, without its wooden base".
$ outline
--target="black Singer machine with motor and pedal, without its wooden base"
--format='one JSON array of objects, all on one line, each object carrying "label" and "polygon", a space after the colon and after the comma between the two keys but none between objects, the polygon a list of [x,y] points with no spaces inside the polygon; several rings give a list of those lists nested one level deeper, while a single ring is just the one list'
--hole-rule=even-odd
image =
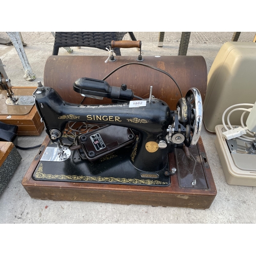
[{"label": "black Singer machine with motor and pedal, without its wooden base", "polygon": [[[175,147],[195,146],[199,140],[203,113],[196,88],[178,101],[175,111],[154,98],[152,91],[149,99],[133,101],[133,92],[124,84],[115,88],[105,81],[80,78],[74,83],[74,90],[87,96],[106,96],[116,103],[68,103],[39,83],[35,104],[46,133],[56,145],[46,150],[41,161],[56,161],[64,169],[70,168],[65,162],[73,162],[72,150],[78,151],[81,160],[76,168],[81,168],[86,177],[81,179],[88,182],[168,186],[169,175],[175,173],[169,170],[168,154]],[[74,139],[74,146],[67,147],[63,132],[67,123],[74,120],[108,126],[81,134]],[[113,159],[102,162],[108,156]],[[72,175],[70,170],[67,172]],[[34,178],[38,178],[37,173]]]}]

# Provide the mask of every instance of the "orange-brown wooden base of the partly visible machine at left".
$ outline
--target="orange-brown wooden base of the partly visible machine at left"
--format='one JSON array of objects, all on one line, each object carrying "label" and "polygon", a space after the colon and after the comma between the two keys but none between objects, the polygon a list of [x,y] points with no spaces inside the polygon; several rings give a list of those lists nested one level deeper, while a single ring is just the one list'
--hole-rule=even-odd
[{"label": "orange-brown wooden base of the partly visible machine at left", "polygon": [[[24,90],[24,95],[28,95],[28,92],[32,95],[36,87],[12,87],[12,91],[15,93],[18,91],[19,95],[22,95]],[[1,105],[0,105],[1,107]],[[18,108],[18,106],[14,106]],[[10,118],[8,118],[10,116]],[[18,136],[38,136],[44,129],[44,123],[41,123],[40,116],[34,105],[28,114],[24,115],[12,115],[11,112],[8,115],[0,115],[0,121],[13,124],[18,126]]]}]

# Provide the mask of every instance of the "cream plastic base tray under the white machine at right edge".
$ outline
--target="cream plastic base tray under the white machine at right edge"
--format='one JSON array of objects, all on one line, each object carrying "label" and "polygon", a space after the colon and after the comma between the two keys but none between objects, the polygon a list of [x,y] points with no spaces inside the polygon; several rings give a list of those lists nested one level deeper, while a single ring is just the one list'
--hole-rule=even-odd
[{"label": "cream plastic base tray under the white machine at right edge", "polygon": [[251,165],[254,165],[254,169],[256,168],[254,164],[256,155],[244,154],[244,167],[241,159],[237,164],[234,164],[226,140],[222,136],[223,127],[224,126],[222,124],[216,125],[215,127],[217,136],[215,145],[227,183],[230,185],[256,186],[256,171],[253,172],[251,170],[253,168],[248,165],[248,161],[251,161]]}]

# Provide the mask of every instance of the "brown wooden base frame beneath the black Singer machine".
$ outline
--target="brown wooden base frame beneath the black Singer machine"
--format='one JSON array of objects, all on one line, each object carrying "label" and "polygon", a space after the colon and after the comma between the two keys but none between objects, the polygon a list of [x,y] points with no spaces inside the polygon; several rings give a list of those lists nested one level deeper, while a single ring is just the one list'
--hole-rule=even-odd
[{"label": "brown wooden base frame beneath the black Singer machine", "polygon": [[[209,166],[205,168],[205,178],[209,189],[181,188],[177,173],[171,176],[171,183],[167,187],[36,181],[32,176],[49,141],[49,138],[46,137],[38,155],[33,160],[22,181],[27,193],[34,199],[206,209],[210,207],[217,195],[216,186]],[[198,146],[200,151],[205,152],[201,138],[198,142]],[[204,160],[201,159],[201,161]],[[170,168],[176,167],[174,153],[169,154],[169,163]]]}]

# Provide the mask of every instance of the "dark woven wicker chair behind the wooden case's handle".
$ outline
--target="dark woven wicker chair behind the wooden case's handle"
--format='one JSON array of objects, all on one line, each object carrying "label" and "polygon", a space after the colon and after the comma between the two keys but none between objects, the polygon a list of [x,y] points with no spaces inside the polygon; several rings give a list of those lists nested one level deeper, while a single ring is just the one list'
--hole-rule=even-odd
[{"label": "dark woven wicker chair behind the wooden case's handle", "polygon": [[[127,32],[55,32],[52,55],[58,55],[60,47],[93,47],[101,50],[110,46],[112,40],[120,41]],[[128,32],[136,40],[133,32]],[[114,48],[121,55],[120,48]]]}]

